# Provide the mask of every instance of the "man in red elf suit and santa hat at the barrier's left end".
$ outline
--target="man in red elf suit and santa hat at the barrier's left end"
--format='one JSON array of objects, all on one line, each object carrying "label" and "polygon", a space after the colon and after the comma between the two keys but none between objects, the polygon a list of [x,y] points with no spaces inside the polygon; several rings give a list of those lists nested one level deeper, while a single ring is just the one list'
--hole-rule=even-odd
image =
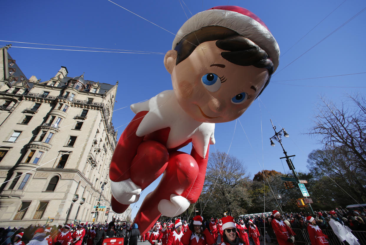
[{"label": "man in red elf suit and santa hat at the barrier's left end", "polygon": [[295,233],[288,227],[280,218],[280,212],[273,210],[273,217],[275,217],[271,224],[273,231],[275,231],[279,245],[293,245],[295,240]]}]

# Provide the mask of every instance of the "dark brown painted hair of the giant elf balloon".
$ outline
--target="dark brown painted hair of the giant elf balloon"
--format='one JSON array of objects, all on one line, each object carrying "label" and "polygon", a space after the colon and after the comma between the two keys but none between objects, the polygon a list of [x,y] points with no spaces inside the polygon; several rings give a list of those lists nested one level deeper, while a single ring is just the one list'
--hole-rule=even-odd
[{"label": "dark brown painted hair of the giant elf balloon", "polygon": [[[228,52],[221,52],[225,60],[241,66],[253,65],[257,68],[266,68],[269,73],[262,91],[268,85],[274,71],[274,65],[267,52],[248,38],[239,35],[238,32],[222,26],[205,26],[184,36],[175,47],[177,51],[176,65],[185,60],[195,48],[208,41],[216,41],[219,49]],[[258,96],[262,93],[258,94]]]}]

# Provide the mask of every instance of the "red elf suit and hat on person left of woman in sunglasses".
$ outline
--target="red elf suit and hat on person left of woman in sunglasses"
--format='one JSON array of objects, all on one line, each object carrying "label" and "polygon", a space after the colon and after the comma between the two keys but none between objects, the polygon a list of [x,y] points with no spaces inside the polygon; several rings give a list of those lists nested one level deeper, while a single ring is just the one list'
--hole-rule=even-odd
[{"label": "red elf suit and hat on person left of woman in sunglasses", "polygon": [[[203,218],[199,215],[193,218],[193,225],[202,225]],[[190,229],[184,233],[181,239],[183,245],[212,245],[214,244],[213,235],[205,229],[201,232],[201,234],[196,234],[192,232]]]}]

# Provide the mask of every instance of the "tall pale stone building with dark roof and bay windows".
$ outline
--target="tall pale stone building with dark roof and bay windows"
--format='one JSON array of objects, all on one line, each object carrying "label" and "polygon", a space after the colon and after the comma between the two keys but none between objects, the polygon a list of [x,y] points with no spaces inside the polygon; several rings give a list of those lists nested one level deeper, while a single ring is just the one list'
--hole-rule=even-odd
[{"label": "tall pale stone building with dark roof and bay windows", "polygon": [[0,227],[105,222],[118,81],[68,77],[63,66],[27,79],[0,51]]}]

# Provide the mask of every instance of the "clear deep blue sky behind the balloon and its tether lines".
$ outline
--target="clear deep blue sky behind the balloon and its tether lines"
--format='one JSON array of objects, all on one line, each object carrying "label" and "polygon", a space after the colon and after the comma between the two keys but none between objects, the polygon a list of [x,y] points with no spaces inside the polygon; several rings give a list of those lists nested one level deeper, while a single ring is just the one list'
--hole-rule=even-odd
[{"label": "clear deep blue sky behind the balloon and its tether lines", "polygon": [[[284,127],[290,134],[290,138],[283,139],[283,145],[289,155],[296,155],[293,160],[296,170],[306,171],[307,155],[320,147],[315,139],[304,134],[311,127],[319,96],[338,102],[345,93],[365,92],[366,74],[284,81],[366,72],[365,32],[362,31],[365,30],[366,13],[361,12],[339,28],[366,7],[364,1],[185,0],[183,3],[182,0],[116,0],[115,3],[173,33],[187,20],[184,11],[190,17],[190,12],[196,14],[217,5],[247,8],[265,22],[279,43],[282,55],[280,66],[260,100],[257,99],[239,118],[249,140],[239,121],[216,124],[215,130],[216,150],[227,152],[230,148],[229,154],[243,160],[251,176],[263,165],[264,169],[288,171],[285,161],[283,167],[279,160],[283,157],[280,145],[270,146],[269,137],[274,134],[270,118],[277,129]],[[7,4],[3,19],[6,25],[3,25],[5,29],[0,39],[5,41],[166,53],[174,39],[168,31],[108,0],[12,1]],[[339,30],[316,45],[337,28]],[[21,47],[77,49],[2,41],[0,45],[8,43]],[[9,53],[28,78],[35,75],[46,81],[56,74],[60,66],[66,66],[71,77],[85,72],[87,80],[110,84],[119,80],[115,110],[172,89],[170,75],[164,68],[163,54],[16,47],[11,48]],[[133,116],[128,107],[113,113],[113,125],[118,127],[119,135]],[[211,151],[215,148],[211,147]],[[140,200],[153,189],[153,185],[142,193]],[[132,210],[133,217],[140,202]]]}]

